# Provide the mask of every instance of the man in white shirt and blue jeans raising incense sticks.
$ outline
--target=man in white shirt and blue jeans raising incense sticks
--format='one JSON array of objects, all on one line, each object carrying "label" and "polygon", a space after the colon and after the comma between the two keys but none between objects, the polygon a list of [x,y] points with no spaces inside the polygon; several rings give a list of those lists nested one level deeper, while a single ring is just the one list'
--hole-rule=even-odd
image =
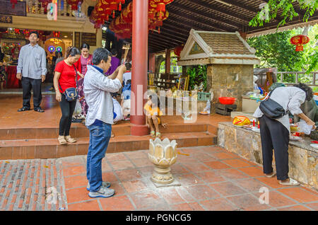
[{"label": "man in white shirt and blue jeans raising incense sticks", "polygon": [[112,75],[104,76],[110,65],[110,52],[105,48],[98,48],[93,53],[93,65],[88,65],[84,77],[83,91],[88,104],[86,126],[90,130],[86,168],[90,197],[114,195],[114,190],[109,188],[110,183],[102,181],[102,158],[105,157],[114,123],[111,93],[122,87],[122,74],[126,68],[122,65]]}]

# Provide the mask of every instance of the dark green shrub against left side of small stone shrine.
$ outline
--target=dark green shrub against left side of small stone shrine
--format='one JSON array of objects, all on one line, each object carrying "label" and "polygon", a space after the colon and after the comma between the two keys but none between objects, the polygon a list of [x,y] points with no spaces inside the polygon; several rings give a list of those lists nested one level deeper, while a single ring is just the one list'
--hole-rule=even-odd
[{"label": "dark green shrub against left side of small stone shrine", "polygon": [[200,86],[201,82],[204,83],[204,90],[206,90],[206,69],[206,65],[198,65],[197,67],[189,67],[187,69],[187,74],[189,75],[189,87],[191,90],[194,89],[195,85]]}]

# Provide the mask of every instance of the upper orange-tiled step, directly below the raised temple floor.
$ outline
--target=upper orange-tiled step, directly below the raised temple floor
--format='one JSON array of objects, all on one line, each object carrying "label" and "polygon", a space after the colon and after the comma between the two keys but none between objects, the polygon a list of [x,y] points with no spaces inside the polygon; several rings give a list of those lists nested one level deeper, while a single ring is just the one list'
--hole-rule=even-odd
[{"label": "upper orange-tiled step, directly below the raised temple floor", "polygon": [[[131,134],[129,122],[121,122],[112,126],[112,132],[115,136],[125,136]],[[162,134],[174,134],[185,132],[211,132],[216,133],[213,126],[206,124],[176,124],[168,125],[167,128],[160,127]],[[2,128],[0,129],[0,140],[16,139],[55,139],[59,135],[59,127],[30,127],[30,128]],[[88,129],[80,124],[73,123],[70,130],[71,137],[89,137]]]}]

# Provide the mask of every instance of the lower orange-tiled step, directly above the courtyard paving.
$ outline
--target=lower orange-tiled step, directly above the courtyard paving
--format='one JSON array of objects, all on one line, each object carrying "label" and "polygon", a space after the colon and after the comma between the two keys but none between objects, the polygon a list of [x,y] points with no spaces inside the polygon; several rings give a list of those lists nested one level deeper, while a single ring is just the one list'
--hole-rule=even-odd
[{"label": "lower orange-tiled step, directly above the courtyard paving", "polygon": [[[177,147],[210,146],[216,144],[215,134],[210,132],[163,133],[162,139],[175,139]],[[89,138],[76,138],[73,144],[60,145],[54,139],[13,139],[0,141],[0,160],[30,158],[61,158],[66,156],[86,155]],[[110,139],[107,153],[149,149],[150,135],[136,137],[130,135],[116,136]]]}]

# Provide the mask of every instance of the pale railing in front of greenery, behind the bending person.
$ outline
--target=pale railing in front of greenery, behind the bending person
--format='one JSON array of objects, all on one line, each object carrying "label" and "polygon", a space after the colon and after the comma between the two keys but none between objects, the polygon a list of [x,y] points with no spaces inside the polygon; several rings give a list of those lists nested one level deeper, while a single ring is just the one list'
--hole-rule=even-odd
[{"label": "pale railing in front of greenery, behind the bending person", "polygon": [[317,82],[318,71],[311,72],[310,74],[306,74],[306,72],[300,72],[300,71],[276,72],[277,81],[280,81],[281,83],[285,83],[286,85],[292,85],[295,83],[284,82],[284,75],[286,74],[295,74],[295,83],[299,83],[301,81],[302,83],[306,83],[310,86],[318,86],[318,82]]}]

